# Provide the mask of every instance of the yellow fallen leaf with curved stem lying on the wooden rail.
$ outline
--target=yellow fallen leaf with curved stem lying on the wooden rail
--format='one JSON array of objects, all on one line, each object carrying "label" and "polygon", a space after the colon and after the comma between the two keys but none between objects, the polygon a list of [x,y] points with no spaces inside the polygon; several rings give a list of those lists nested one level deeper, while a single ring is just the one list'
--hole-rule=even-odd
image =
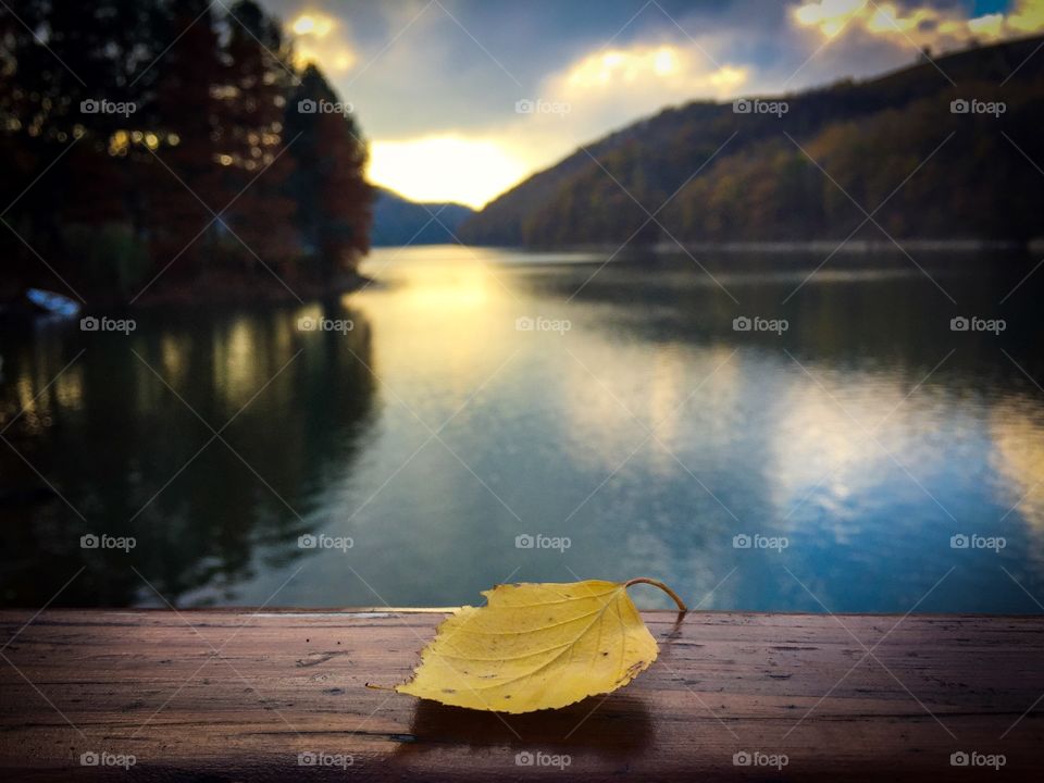
[{"label": "yellow fallen leaf with curved stem lying on the wooden rail", "polygon": [[630,582],[497,585],[486,606],[446,619],[409,682],[396,691],[446,705],[500,712],[566,707],[623,687],[657,655],[627,595]]}]

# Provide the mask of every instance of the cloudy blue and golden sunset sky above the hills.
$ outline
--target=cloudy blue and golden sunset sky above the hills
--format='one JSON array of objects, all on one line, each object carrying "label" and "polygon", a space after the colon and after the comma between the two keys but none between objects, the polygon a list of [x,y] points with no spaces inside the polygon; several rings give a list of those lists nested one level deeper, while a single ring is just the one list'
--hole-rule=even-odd
[{"label": "cloudy blue and golden sunset sky above the hills", "polygon": [[471,207],[667,105],[1044,29],[1044,0],[262,1],[355,105],[374,183]]}]

